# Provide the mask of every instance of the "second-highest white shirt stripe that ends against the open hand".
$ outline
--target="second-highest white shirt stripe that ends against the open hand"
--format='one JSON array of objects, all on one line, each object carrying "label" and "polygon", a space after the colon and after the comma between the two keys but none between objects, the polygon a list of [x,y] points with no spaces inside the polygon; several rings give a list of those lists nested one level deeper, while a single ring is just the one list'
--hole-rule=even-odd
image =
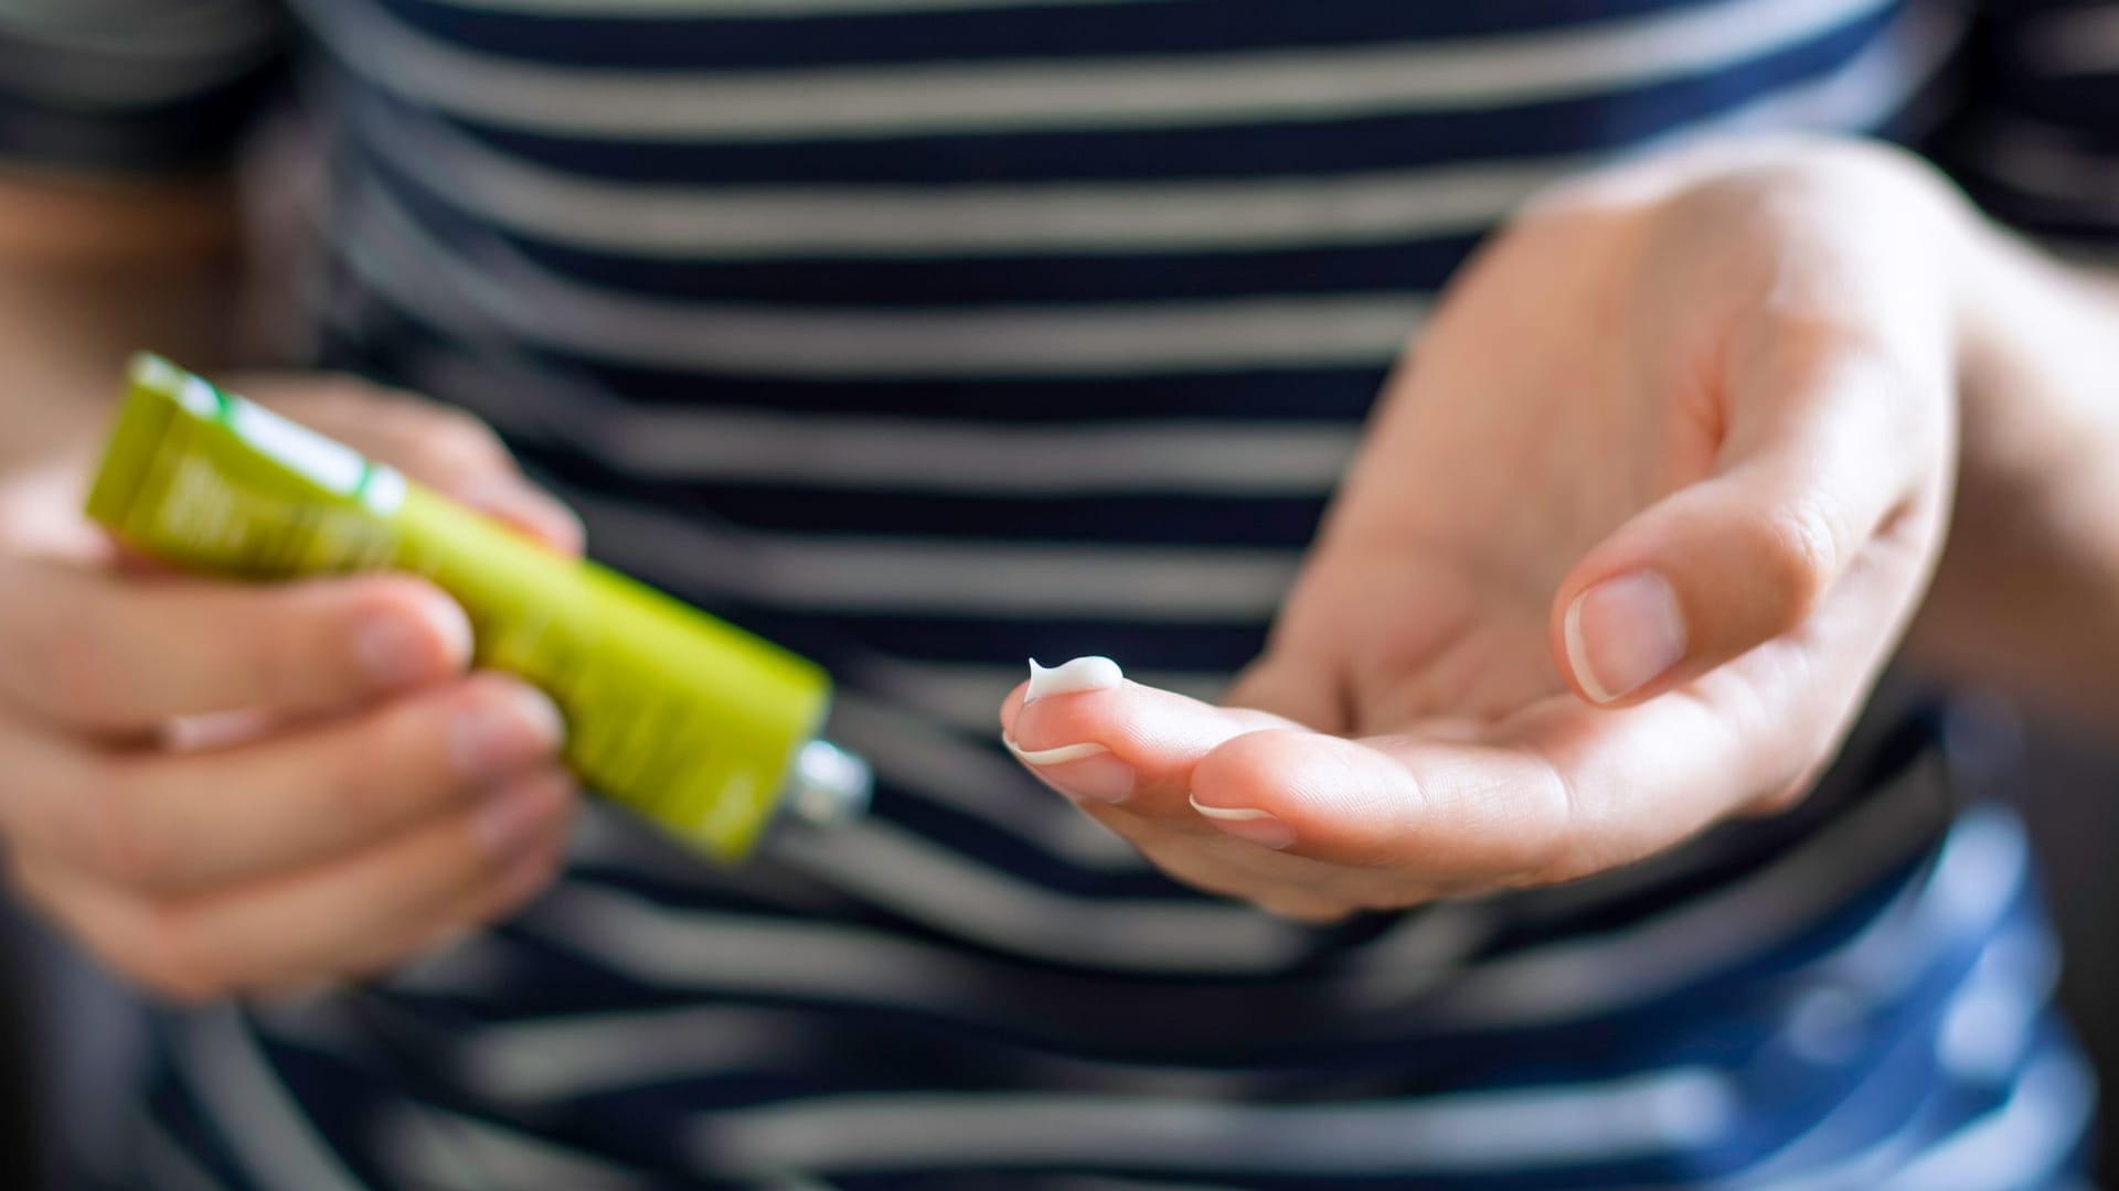
[{"label": "second-highest white shirt stripe that ends against the open hand", "polygon": [[1388,367],[1422,295],[1051,307],[816,312],[627,297],[481,242],[426,237],[388,195],[350,212],[348,263],[462,339],[526,339],[583,356],[769,377],[1100,377],[1199,369]]}]

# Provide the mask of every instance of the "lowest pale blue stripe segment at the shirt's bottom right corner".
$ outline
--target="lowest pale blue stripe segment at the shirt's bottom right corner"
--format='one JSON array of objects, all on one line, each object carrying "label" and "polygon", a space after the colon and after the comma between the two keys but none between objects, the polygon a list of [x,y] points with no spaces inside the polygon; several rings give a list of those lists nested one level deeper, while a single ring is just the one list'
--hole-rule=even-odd
[{"label": "lowest pale blue stripe segment at the shirt's bottom right corner", "polygon": [[2064,1045],[2017,1079],[2000,1108],[1943,1140],[1877,1191],[2013,1191],[2051,1183],[2083,1136],[2096,1079]]}]

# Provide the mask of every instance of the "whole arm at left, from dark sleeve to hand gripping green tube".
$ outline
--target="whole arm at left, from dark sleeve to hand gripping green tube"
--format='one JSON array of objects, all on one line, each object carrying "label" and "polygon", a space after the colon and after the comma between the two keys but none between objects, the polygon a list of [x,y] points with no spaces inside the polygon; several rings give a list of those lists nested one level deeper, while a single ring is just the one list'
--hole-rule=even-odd
[{"label": "whole arm at left, from dark sleeve to hand gripping green tube", "polygon": [[[153,36],[201,13],[95,17]],[[0,40],[38,34],[0,4]],[[87,178],[210,178],[265,49],[186,70],[201,95],[114,125],[57,91],[136,64],[70,61],[36,81],[44,104],[19,78],[0,95],[0,860],[110,966],[178,996],[311,985],[475,928],[549,879],[572,805],[557,710],[464,674],[470,625],[426,583],[138,574],[81,515],[125,356],[229,362],[237,275],[227,186]],[[343,377],[242,388],[432,485],[481,487],[562,549],[578,536],[468,417]]]}]

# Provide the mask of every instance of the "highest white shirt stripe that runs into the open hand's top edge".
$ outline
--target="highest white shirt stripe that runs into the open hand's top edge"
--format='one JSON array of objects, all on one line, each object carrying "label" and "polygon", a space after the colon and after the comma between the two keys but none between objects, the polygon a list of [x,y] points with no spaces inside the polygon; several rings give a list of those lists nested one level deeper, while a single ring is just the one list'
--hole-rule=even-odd
[{"label": "highest white shirt stripe that runs into the open hand's top edge", "polygon": [[439,119],[354,106],[451,206],[598,252],[687,259],[1227,252],[1468,235],[1596,157],[1244,182],[655,186],[513,161]]}]

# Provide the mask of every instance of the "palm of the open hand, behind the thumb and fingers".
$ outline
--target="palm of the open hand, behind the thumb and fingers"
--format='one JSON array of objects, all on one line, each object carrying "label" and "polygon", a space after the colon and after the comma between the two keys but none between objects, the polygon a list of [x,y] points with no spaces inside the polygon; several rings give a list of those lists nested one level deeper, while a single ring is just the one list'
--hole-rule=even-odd
[{"label": "palm of the open hand, behind the thumb and fingers", "polygon": [[1502,242],[1392,381],[1276,634],[1346,695],[1348,723],[1318,727],[1572,704],[1547,644],[1562,576],[1714,454],[1716,394],[1666,384],[1670,343],[1627,343],[1653,275],[1638,223],[1585,210]]}]

